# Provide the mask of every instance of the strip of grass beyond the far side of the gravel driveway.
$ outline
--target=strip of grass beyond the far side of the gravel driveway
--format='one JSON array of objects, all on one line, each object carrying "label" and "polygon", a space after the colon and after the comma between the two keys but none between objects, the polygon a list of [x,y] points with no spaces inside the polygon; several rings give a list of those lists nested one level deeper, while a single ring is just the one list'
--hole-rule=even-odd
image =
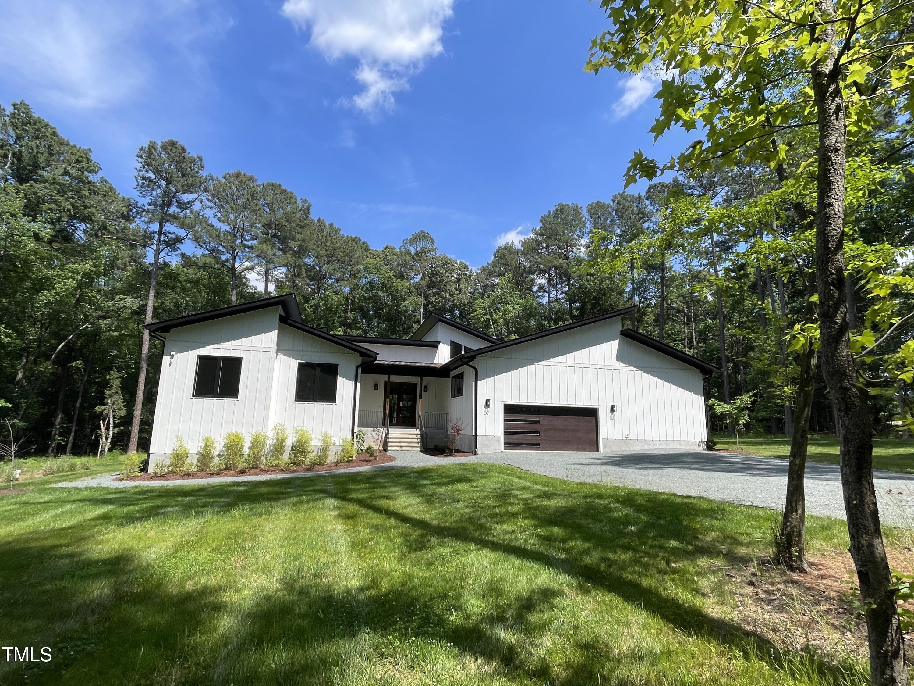
[{"label": "strip of grass beyond the far side of the gravel driveway", "polygon": [[[716,447],[722,450],[736,450],[737,441],[728,435],[715,435]],[[787,436],[739,436],[739,447],[752,455],[788,457],[791,454],[791,439]],[[828,462],[833,465],[841,461],[838,455],[838,439],[834,435],[815,434],[809,437],[807,459],[813,462]],[[873,439],[873,467],[891,472],[914,474],[914,440],[901,438]]]}]

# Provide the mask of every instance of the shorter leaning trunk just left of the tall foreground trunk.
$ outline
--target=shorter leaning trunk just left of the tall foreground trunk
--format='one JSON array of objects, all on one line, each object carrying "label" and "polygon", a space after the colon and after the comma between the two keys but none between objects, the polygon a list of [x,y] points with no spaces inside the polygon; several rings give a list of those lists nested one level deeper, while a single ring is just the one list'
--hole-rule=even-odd
[{"label": "shorter leaning trunk just left of the tall foreground trunk", "polygon": [[777,541],[778,560],[792,572],[806,571],[806,495],[803,476],[809,447],[809,418],[815,391],[815,349],[810,345],[800,356],[796,415],[791,438],[790,466],[787,469],[787,501]]}]

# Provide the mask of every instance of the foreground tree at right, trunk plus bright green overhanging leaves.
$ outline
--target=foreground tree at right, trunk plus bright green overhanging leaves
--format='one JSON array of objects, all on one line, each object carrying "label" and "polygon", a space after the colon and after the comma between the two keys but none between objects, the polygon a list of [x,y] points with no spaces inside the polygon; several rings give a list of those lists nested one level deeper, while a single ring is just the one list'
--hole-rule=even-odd
[{"label": "foreground tree at right, trunk plus bright green overhanging leaves", "polygon": [[[659,136],[674,125],[701,137],[665,166],[635,153],[628,181],[664,169],[707,169],[739,159],[781,168],[785,136],[808,132],[816,206],[816,284],[824,378],[841,443],[845,511],[866,604],[870,678],[907,683],[905,651],[873,485],[866,389],[848,336],[845,284],[846,134],[860,137],[882,107],[910,113],[914,5],[904,0],[802,0],[792,4],[698,0],[681,4],[601,0],[612,28],[592,43],[589,68],[664,75]],[[865,174],[869,160],[856,155]],[[790,183],[779,174],[782,183]],[[797,177],[796,183],[802,183]],[[809,213],[804,213],[809,214]]]}]

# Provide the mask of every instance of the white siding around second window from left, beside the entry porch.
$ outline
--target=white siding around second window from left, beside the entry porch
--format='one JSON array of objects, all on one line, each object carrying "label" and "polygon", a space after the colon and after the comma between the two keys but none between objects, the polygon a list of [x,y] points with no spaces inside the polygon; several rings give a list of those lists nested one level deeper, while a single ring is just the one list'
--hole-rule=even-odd
[{"label": "white siding around second window from left, beside the entry porch", "polygon": [[[361,358],[345,348],[283,324],[279,326],[276,348],[270,426],[284,424],[290,434],[295,427],[304,427],[312,433],[315,443],[326,432],[334,437],[334,445],[340,445],[344,438],[352,435],[356,366]],[[339,365],[335,402],[295,402],[299,362]]]}]

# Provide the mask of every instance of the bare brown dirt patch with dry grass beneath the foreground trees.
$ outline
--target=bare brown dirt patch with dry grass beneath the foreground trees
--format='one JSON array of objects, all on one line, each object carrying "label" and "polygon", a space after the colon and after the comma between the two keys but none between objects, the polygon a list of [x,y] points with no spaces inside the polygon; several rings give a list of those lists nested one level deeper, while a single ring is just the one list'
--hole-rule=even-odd
[{"label": "bare brown dirt patch with dry grass beneath the foreground trees", "polygon": [[[910,549],[888,555],[893,569],[910,570]],[[787,572],[767,557],[725,568],[735,607],[722,608],[722,615],[783,650],[813,650],[834,660],[868,659],[850,553],[819,553],[807,562],[808,573]]]}]

